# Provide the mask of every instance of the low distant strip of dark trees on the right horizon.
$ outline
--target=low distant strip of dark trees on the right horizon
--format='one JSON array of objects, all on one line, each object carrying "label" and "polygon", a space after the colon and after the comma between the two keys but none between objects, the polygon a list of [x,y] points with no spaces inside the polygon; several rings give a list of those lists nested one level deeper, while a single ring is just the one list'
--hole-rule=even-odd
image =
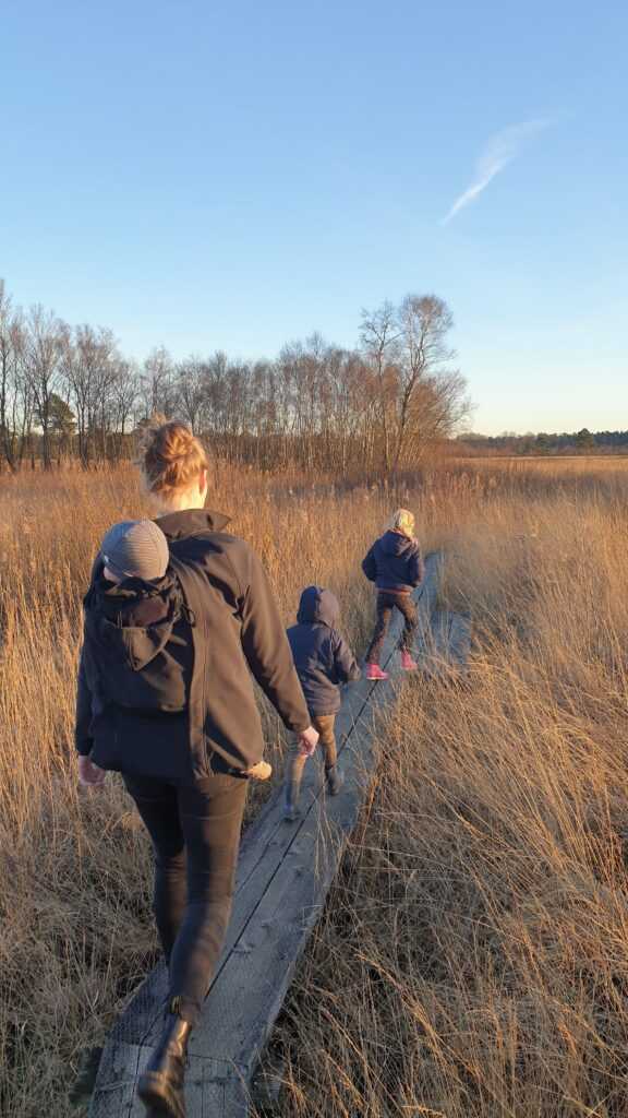
[{"label": "low distant strip of dark trees on the right horizon", "polygon": [[459,435],[458,447],[465,453],[482,454],[628,454],[628,430],[590,432],[587,427],[562,434]]}]

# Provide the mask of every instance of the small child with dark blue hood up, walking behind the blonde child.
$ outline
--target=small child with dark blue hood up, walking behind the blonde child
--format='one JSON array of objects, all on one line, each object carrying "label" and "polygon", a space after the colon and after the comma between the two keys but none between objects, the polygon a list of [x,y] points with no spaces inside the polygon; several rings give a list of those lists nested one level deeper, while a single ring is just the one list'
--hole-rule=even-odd
[{"label": "small child with dark blue hood up, walking behind the blonde child", "polygon": [[[332,796],[342,787],[336,768],[335,717],[340,710],[339,684],[360,679],[355,657],[337,631],[340,606],[331,590],[308,586],[301,595],[297,624],[287,636],[312,724],[318,731],[325,757],[325,778]],[[296,818],[301,778],[307,757],[293,748],[284,792],[284,817]]]}]

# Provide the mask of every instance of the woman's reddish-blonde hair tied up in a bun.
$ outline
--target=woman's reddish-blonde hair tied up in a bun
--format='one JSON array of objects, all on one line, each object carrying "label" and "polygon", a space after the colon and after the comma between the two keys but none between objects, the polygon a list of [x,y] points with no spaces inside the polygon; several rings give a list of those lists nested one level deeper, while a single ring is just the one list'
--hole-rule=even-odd
[{"label": "woman's reddish-blonde hair tied up in a bun", "polygon": [[209,462],[188,424],[156,415],[142,434],[139,465],[149,492],[168,498],[190,489]]}]

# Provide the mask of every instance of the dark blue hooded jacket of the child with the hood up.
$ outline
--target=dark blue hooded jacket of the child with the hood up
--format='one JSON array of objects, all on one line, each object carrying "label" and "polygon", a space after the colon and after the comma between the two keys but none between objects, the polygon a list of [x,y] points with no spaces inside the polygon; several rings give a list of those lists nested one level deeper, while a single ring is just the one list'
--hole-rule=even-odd
[{"label": "dark blue hooded jacket of the child with the hood up", "polygon": [[339,684],[359,680],[361,674],[335,627],[337,599],[331,590],[308,586],[301,595],[296,619],[287,635],[310,713],[335,714],[341,703]]}]

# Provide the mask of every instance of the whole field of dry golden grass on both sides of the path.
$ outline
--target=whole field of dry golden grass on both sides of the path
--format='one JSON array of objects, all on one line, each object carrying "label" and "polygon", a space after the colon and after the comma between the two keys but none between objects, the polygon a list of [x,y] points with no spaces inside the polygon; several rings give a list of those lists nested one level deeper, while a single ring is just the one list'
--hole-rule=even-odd
[{"label": "whole field of dry golden grass on both sides of the path", "polygon": [[[282,1112],[625,1116],[628,461],[469,459],[396,493],[212,477],[286,624],[304,585],[329,585],[363,653],[360,560],[397,503],[474,617],[464,684],[408,680],[381,724],[274,1036]],[[145,504],[131,467],[2,476],[0,499],[0,1112],[68,1118],[80,1050],[156,957],[146,839],[117,778],[78,789],[72,747],[92,558]]]}]

